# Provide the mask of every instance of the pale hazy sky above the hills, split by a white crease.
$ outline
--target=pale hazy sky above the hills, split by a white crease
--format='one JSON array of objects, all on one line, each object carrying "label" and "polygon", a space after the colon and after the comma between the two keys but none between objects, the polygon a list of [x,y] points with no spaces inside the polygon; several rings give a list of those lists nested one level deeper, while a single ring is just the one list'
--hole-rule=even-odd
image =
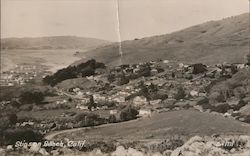
[{"label": "pale hazy sky above the hills, split by a white crease", "polygon": [[[249,12],[249,0],[118,0],[121,40]],[[117,41],[116,0],[1,0],[1,38],[76,35]]]}]

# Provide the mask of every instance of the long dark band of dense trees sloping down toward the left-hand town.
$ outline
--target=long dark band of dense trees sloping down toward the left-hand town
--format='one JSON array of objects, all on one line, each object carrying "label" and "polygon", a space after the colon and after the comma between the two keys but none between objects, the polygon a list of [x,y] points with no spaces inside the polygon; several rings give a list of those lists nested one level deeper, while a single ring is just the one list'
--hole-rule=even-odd
[{"label": "long dark band of dense trees sloping down toward the left-hand town", "polygon": [[105,65],[103,63],[96,62],[94,59],[91,59],[85,63],[81,63],[76,66],[68,66],[67,68],[58,70],[55,74],[46,76],[43,81],[46,84],[55,86],[56,84],[67,79],[94,75],[95,70],[98,68],[105,68]]}]

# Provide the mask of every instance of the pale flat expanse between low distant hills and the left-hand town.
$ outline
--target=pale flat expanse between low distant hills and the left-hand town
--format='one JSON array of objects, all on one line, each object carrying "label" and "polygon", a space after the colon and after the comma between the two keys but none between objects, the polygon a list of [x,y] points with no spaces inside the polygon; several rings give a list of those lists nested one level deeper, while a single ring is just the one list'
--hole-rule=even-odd
[{"label": "pale flat expanse between low distant hills and the left-hand town", "polygon": [[[69,50],[2,50],[1,71],[20,65],[44,66],[49,71],[66,67],[80,58],[74,56],[75,49]],[[81,50],[81,52],[84,52]]]}]

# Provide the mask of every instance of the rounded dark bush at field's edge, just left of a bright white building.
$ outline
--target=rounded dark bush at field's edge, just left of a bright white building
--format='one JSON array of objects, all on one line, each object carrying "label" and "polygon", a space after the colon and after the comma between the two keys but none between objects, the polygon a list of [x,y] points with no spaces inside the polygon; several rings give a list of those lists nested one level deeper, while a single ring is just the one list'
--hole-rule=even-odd
[{"label": "rounded dark bush at field's edge, just left of a bright white building", "polygon": [[121,121],[132,120],[135,119],[138,114],[139,112],[131,105],[129,105],[121,111],[120,119]]}]

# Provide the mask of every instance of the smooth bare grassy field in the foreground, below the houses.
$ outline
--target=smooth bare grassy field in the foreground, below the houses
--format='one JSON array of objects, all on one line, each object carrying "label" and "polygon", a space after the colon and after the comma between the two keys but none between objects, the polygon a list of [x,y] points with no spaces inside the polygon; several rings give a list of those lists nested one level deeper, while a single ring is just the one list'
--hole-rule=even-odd
[{"label": "smooth bare grassy field in the foreground, below the houses", "polygon": [[224,118],[222,115],[201,113],[195,110],[181,110],[156,113],[152,117],[124,123],[66,130],[55,137],[73,140],[118,139],[138,141],[165,139],[174,135],[191,137],[213,134],[250,134],[250,126],[233,119]]}]

